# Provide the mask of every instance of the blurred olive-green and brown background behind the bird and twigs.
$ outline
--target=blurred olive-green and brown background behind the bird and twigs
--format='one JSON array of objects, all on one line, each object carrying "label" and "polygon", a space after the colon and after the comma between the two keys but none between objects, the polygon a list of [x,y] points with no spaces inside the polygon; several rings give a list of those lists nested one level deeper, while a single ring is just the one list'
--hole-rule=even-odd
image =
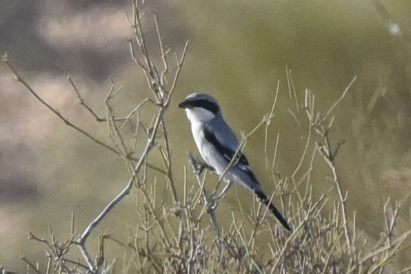
[{"label": "blurred olive-green and brown background behind the bird and twigs", "polygon": [[[197,150],[186,116],[176,106],[194,90],[214,95],[240,134],[270,111],[280,81],[269,144],[274,146],[279,134],[276,168],[287,177],[299,164],[307,128],[296,126],[289,112],[295,102],[288,95],[285,68],[292,71],[300,106],[309,89],[323,113],[357,76],[334,111],[331,137],[345,140],[337,172],[349,193],[348,213],[355,211],[359,230],[377,241],[385,225],[383,202],[403,199],[411,190],[411,2],[147,1],[144,23],[155,52],[153,12],[172,50],[181,54],[190,40],[166,115],[179,182],[187,150]],[[146,97],[145,79],[130,60],[127,13],[130,3],[120,0],[3,0],[0,54],[7,52],[23,78],[70,121],[103,138],[106,126],[79,106],[66,78],[70,75],[101,116],[110,77],[124,85],[119,112],[126,114]],[[3,64],[0,108],[0,265],[22,271],[20,256],[42,261],[44,255],[43,246],[27,240],[28,231],[47,237],[50,226],[58,237],[69,237],[72,212],[82,231],[123,188],[128,170],[35,101]],[[259,130],[245,151],[270,192],[274,186],[261,163],[263,141]],[[318,178],[324,178],[324,170]],[[332,186],[331,180],[313,182],[319,194]],[[233,189],[223,203],[238,208],[236,195],[248,194]],[[137,222],[133,205],[133,198],[121,203],[96,235],[106,230],[127,235],[127,226]],[[230,216],[223,208],[219,214]],[[409,210],[399,222],[399,232],[410,227]]]}]

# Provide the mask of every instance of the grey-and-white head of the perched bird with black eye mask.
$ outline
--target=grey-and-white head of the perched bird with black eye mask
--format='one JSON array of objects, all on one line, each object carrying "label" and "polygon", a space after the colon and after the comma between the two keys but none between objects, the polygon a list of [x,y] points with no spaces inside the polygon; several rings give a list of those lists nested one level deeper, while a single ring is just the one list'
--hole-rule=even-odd
[{"label": "grey-and-white head of the perched bird with black eye mask", "polygon": [[192,93],[179,104],[191,122],[210,121],[221,115],[217,101],[206,93]]}]

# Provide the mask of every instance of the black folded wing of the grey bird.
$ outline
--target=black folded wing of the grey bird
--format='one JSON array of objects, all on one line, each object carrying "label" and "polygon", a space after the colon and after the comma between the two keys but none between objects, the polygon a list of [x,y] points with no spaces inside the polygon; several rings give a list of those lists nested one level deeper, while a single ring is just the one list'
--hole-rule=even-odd
[{"label": "black folded wing of the grey bird", "polygon": [[[227,160],[227,164],[229,164],[232,161],[232,158],[236,156],[235,150],[232,150],[231,148],[228,148],[227,146],[224,146],[223,144],[221,144],[221,142],[217,140],[217,137],[214,135],[214,133],[212,133],[207,128],[204,128],[204,137],[219,151],[219,153],[221,153],[221,155],[223,155],[223,157]],[[250,164],[248,164],[247,158],[241,151],[237,153],[234,163],[235,163],[234,166],[237,166],[238,168],[243,170],[245,173],[248,174],[248,176],[250,176],[250,178],[254,182],[259,184],[254,173],[252,173],[252,170],[250,168]]]}]

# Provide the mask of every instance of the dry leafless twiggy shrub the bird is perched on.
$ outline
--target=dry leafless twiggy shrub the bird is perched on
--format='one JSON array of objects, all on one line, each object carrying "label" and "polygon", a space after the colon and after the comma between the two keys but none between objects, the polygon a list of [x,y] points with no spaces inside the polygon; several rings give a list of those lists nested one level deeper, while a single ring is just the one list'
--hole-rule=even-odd
[{"label": "dry leafless twiggy shrub the bird is perched on", "polygon": [[[169,127],[163,120],[163,115],[168,110],[188,43],[181,50],[180,56],[174,58],[170,49],[164,46],[160,26],[157,24],[159,52],[155,55],[152,49],[148,50],[144,38],[143,4],[134,1],[132,14],[129,21],[134,37],[129,40],[130,52],[136,66],[146,76],[147,97],[131,109],[126,117],[117,117],[111,102],[121,96],[122,90],[113,84],[105,100],[106,117],[98,117],[82,99],[74,82],[68,79],[80,104],[98,122],[106,123],[110,129],[110,144],[72,124],[67,117],[39,97],[38,92],[19,75],[7,57],[3,57],[17,81],[41,104],[74,130],[119,155],[130,170],[130,179],[121,193],[113,197],[79,235],[75,232],[74,217],[70,239],[55,239],[52,231],[50,239],[30,233],[30,239],[41,243],[39,248],[46,248],[47,254],[45,269],[23,258],[30,273],[406,273],[411,269],[411,266],[399,269],[393,263],[396,255],[407,252],[407,241],[409,242],[411,234],[411,230],[401,233],[396,231],[399,211],[404,209],[402,202],[395,202],[391,206],[388,200],[382,208],[386,231],[381,241],[374,246],[368,244],[367,235],[359,233],[355,214],[349,213],[346,208],[348,192],[341,187],[334,162],[343,142],[333,141],[329,133],[334,121],[332,110],[343,100],[355,79],[323,115],[317,112],[314,95],[308,90],[301,100],[301,107],[288,72],[290,97],[295,101],[289,111],[296,119],[297,126],[307,128],[307,135],[303,136],[305,148],[301,152],[299,166],[290,177],[281,177],[277,173],[275,161],[278,141],[274,148],[270,148],[267,134],[265,155],[262,158],[270,166],[276,185],[273,199],[281,204],[281,211],[293,224],[292,232],[285,231],[281,226],[273,226],[266,208],[260,204],[254,204],[251,214],[232,213],[230,226],[223,227],[216,215],[218,204],[216,206],[213,199],[218,191],[206,187],[207,174],[201,176],[194,173],[191,176],[188,173],[194,167],[193,159],[190,170],[182,170],[172,166],[170,157],[173,148],[168,141]],[[262,128],[268,132],[276,103],[277,96],[268,114],[256,128],[243,136],[241,148],[255,130]],[[150,119],[141,120],[141,117],[147,117],[142,113],[143,106],[144,110],[150,108],[154,113]],[[271,150],[274,150],[273,157],[269,156]],[[152,153],[159,153],[163,164],[148,162],[148,155]],[[322,164],[314,164],[318,162],[314,159],[321,159]],[[318,168],[328,168],[332,184],[327,193],[314,197],[311,174]],[[175,170],[186,175],[182,191],[177,189],[180,184],[174,182]],[[155,179],[148,179],[148,173],[154,173]],[[329,180],[326,177],[323,179]],[[193,184],[193,180],[197,182]],[[156,193],[156,182],[167,182],[165,193]],[[136,190],[137,197],[140,197],[137,201],[139,222],[137,226],[130,228],[128,241],[121,242],[115,235],[94,235],[94,228],[128,196],[132,188]],[[332,209],[325,211],[324,208]],[[239,214],[246,216],[239,218]],[[90,237],[99,238],[98,254],[92,254],[86,245]],[[119,244],[123,248],[123,255],[106,257],[105,242],[108,240]],[[77,251],[81,252],[81,257],[78,257]],[[1,269],[1,273],[9,272]]]}]

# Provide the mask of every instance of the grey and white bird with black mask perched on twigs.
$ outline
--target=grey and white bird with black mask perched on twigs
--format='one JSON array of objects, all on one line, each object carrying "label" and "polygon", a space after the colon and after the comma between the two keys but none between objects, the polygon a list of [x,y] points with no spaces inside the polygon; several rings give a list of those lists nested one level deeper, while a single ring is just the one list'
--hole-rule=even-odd
[{"label": "grey and white bird with black mask perched on twigs", "polygon": [[263,192],[247,157],[239,150],[239,141],[223,119],[216,99],[206,93],[194,92],[181,101],[178,107],[186,110],[194,142],[206,165],[228,183],[219,197],[225,194],[233,182],[237,182],[252,190],[284,228],[291,231],[283,215]]}]

